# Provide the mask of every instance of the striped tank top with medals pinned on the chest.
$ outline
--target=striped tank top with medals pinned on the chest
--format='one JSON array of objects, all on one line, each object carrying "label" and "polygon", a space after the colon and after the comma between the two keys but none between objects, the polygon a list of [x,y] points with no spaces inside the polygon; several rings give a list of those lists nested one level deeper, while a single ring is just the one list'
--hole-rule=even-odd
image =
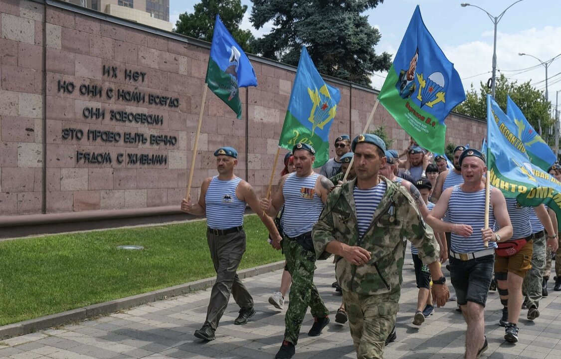
[{"label": "striped tank top with medals pinned on the chest", "polygon": [[310,232],[318,222],[323,209],[323,201],[315,192],[318,177],[319,174],[315,172],[308,177],[298,177],[296,172],[293,172],[284,181],[284,213],[280,222],[288,237]]}]

